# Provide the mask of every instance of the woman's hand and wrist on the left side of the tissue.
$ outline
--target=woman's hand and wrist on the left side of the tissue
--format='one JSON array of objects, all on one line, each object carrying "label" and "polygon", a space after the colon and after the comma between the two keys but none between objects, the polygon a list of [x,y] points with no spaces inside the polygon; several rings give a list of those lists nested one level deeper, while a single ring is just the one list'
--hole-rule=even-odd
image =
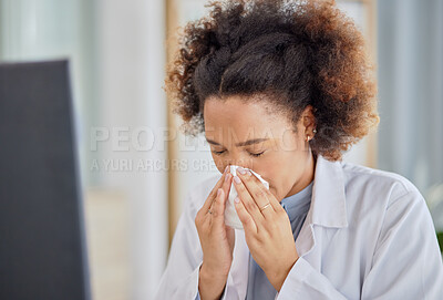
[{"label": "woman's hand and wrist on the left side of the tissue", "polygon": [[217,298],[223,292],[233,262],[235,231],[225,225],[226,200],[233,180],[228,169],[226,167],[195,218],[203,250],[198,285],[202,299]]}]

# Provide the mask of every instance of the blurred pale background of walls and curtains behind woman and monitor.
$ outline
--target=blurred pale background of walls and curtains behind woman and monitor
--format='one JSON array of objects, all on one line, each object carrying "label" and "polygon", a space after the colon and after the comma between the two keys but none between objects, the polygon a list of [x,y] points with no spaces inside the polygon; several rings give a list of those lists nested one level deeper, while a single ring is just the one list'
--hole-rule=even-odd
[{"label": "blurred pale background of walls and curtains behind woman and monitor", "polygon": [[[377,133],[344,161],[399,173],[443,231],[443,0],[337,1],[377,61]],[[186,193],[218,174],[163,90],[204,0],[0,0],[0,62],[68,58],[93,299],[151,299]]]}]

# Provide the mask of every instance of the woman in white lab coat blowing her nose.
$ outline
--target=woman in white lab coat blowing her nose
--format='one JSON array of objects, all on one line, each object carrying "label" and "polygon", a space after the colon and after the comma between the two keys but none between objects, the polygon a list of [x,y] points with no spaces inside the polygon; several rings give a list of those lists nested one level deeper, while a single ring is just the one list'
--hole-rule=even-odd
[{"label": "woman in white lab coat blowing her nose", "polygon": [[[341,161],[379,123],[356,25],[333,1],[212,7],[166,83],[223,175],[187,195],[155,299],[443,299],[420,192]],[[244,230],[225,225],[231,186]]]}]

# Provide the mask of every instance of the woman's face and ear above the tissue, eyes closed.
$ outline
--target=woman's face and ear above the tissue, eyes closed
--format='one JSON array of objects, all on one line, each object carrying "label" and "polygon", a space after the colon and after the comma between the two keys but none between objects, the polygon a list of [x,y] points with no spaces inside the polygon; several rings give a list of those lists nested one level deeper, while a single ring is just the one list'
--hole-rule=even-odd
[{"label": "woman's face and ear above the tissue, eyes closed", "polygon": [[266,107],[266,102],[243,102],[239,96],[226,101],[208,97],[205,135],[220,173],[227,165],[250,168],[269,183],[270,192],[281,201],[313,179],[316,162],[306,138],[313,136],[315,117],[308,106],[297,134],[287,117]]}]

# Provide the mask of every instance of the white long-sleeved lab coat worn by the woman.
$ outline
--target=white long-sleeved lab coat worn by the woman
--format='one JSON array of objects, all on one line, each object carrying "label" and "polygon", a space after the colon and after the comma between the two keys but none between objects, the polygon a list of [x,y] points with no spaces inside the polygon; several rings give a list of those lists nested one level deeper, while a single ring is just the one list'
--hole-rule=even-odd
[{"label": "white long-sleeved lab coat worn by the woman", "polygon": [[[203,251],[195,216],[219,176],[187,195],[156,300],[198,292]],[[235,230],[222,299],[245,299],[249,249]],[[296,240],[299,259],[275,299],[443,299],[443,265],[424,198],[406,178],[318,157],[312,199]]]}]

